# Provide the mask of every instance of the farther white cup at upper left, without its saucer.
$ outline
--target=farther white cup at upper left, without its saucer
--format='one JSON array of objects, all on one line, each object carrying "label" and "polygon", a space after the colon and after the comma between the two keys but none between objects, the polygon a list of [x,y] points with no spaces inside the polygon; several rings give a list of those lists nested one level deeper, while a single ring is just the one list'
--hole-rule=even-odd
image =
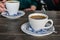
[{"label": "farther white cup at upper left, without its saucer", "polygon": [[5,4],[9,15],[17,14],[20,5],[19,1],[6,1]]}]

